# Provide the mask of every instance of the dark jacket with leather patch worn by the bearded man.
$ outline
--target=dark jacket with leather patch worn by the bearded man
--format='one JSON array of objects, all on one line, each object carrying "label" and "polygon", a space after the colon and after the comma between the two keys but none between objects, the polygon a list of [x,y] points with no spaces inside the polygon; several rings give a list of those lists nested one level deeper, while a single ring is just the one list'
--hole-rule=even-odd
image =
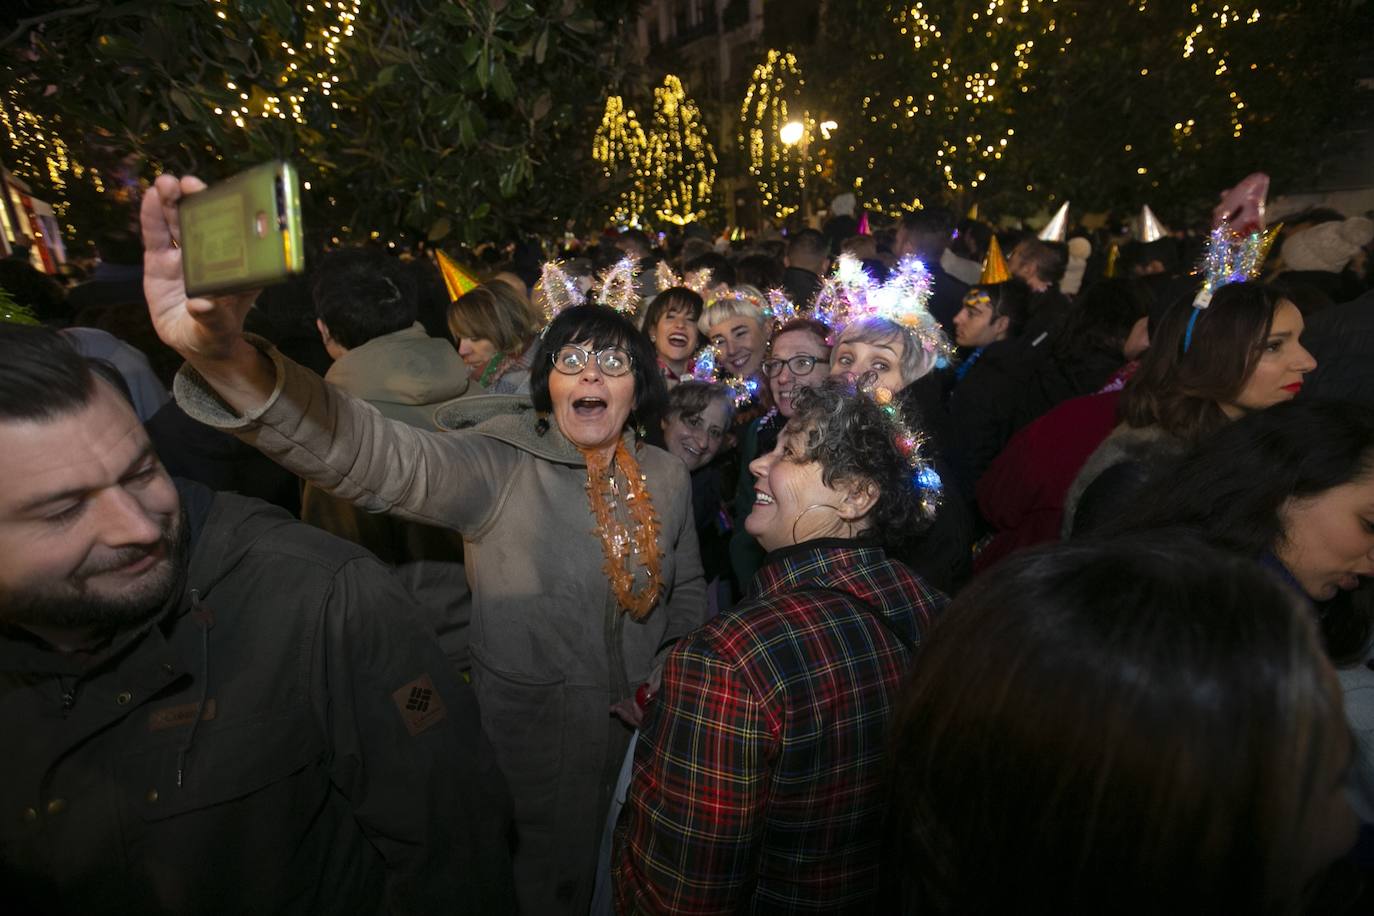
[{"label": "dark jacket with leather patch worn by the bearded man", "polygon": [[513,912],[471,691],[364,551],[179,483],[188,563],[92,658],[0,633],[10,913]]}]

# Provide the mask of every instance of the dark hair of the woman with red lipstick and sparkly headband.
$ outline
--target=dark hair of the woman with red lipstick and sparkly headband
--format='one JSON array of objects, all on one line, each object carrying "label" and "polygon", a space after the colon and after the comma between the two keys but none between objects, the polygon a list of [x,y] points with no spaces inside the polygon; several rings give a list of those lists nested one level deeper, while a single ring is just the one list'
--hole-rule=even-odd
[{"label": "dark hair of the woman with red lipstick and sparkly headband", "polygon": [[1184,442],[1227,422],[1221,404],[1234,398],[1254,371],[1282,299],[1260,283],[1228,283],[1216,291],[1193,328],[1191,298],[1169,306],[1150,336],[1140,368],[1125,383],[1117,408],[1128,426],[1158,426]]}]

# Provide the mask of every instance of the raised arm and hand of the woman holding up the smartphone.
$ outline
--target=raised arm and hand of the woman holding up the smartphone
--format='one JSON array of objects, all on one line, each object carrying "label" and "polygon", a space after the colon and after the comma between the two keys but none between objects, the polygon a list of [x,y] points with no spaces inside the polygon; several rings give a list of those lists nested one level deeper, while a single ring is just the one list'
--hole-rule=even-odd
[{"label": "raised arm and hand of the woman holding up the smartphone", "polygon": [[143,198],[143,288],[153,324],[188,367],[181,408],[293,474],[374,512],[460,531],[480,527],[510,477],[499,444],[387,420],[243,335],[256,294],[188,298],[176,202],[205,184],[159,176]]}]

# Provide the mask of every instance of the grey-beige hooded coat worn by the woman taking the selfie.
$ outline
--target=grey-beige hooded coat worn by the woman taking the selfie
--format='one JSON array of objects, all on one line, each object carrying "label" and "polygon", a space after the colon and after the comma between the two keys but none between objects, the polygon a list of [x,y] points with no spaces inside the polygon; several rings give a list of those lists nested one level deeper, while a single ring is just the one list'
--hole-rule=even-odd
[{"label": "grey-beige hooded coat worn by the woman taking the selfie", "polygon": [[515,802],[519,906],[584,913],[629,743],[610,706],[706,612],[687,468],[662,449],[636,452],[660,520],[662,593],[633,619],[605,573],[585,459],[528,401],[459,398],[437,412],[453,431],[427,433],[267,353],[276,390],[250,415],[228,412],[190,367],[177,401],[335,496],[462,533],[473,687]]}]

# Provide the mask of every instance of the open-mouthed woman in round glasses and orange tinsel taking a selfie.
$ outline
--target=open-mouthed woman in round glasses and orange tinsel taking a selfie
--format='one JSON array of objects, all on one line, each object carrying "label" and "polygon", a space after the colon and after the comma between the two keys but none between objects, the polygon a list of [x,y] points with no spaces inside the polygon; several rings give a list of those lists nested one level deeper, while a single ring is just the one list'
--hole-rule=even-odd
[{"label": "open-mouthed woman in round glasses and orange tinsel taking a selfie", "polygon": [[463,534],[473,687],[515,802],[521,912],[587,912],[629,740],[610,707],[633,707],[705,610],[687,470],[632,433],[665,398],[653,346],[617,312],[569,308],[534,353],[533,409],[467,398],[441,422],[471,428],[447,433],[386,420],[246,339],[251,295],[187,298],[174,205],[202,187],[162,176],[142,216],[154,324],[194,369],[185,409],[335,496]]}]

